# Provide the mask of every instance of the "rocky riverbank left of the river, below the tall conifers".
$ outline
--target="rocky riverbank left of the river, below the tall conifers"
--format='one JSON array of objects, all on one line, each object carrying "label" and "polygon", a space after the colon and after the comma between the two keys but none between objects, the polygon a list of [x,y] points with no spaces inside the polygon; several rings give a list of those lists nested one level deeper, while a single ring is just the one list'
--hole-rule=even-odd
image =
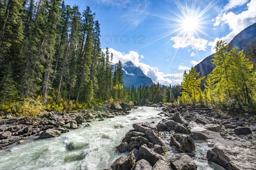
[{"label": "rocky riverbank left of the river, below the tall conifers", "polygon": [[0,119],[0,149],[10,144],[22,143],[27,138],[52,138],[69,132],[70,129],[89,127],[88,122],[104,121],[114,116],[128,115],[131,110],[124,103],[112,104],[106,111],[83,111],[76,113],[44,112],[37,119],[7,116]]}]

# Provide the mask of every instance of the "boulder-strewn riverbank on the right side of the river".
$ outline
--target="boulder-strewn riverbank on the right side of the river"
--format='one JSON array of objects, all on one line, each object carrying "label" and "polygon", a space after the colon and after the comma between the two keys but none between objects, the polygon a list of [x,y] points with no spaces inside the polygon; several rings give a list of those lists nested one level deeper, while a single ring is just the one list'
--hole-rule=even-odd
[{"label": "boulder-strewn riverbank on the right side of the river", "polygon": [[[209,109],[183,109],[164,105],[157,125],[133,125],[119,152],[129,152],[113,162],[113,170],[196,170],[195,143],[206,142],[209,165],[227,170],[256,170],[256,124],[249,115],[239,117],[216,114]],[[220,168],[221,168],[220,167]],[[111,169],[105,169],[111,170]]]}]

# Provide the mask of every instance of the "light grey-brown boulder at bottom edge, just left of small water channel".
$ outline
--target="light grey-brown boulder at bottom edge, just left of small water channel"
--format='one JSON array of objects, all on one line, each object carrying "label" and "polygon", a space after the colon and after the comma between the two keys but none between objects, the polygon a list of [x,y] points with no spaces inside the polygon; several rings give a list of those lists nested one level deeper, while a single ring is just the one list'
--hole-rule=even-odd
[{"label": "light grey-brown boulder at bottom edge, just left of small water channel", "polygon": [[193,159],[185,153],[172,154],[168,160],[174,170],[197,170],[197,165]]}]

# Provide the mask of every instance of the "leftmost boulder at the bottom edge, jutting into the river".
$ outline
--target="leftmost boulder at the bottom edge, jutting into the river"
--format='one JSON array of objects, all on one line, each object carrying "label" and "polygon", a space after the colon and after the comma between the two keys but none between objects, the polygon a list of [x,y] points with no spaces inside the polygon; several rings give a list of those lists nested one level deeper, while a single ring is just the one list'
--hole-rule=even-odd
[{"label": "leftmost boulder at the bottom edge, jutting into the river", "polygon": [[111,167],[113,170],[131,170],[135,162],[136,160],[134,153],[131,152],[128,156],[121,156],[120,158],[116,159]]}]

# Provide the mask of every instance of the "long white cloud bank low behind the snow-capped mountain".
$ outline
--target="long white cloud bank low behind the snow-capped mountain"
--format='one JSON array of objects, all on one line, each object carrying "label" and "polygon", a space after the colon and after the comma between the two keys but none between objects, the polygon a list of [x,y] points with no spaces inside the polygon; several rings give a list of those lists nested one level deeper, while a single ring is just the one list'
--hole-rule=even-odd
[{"label": "long white cloud bank low behind the snow-capped mountain", "polygon": [[[108,49],[110,53],[113,53],[113,63],[117,63],[119,60],[124,64],[125,62],[132,61],[134,65],[140,67],[144,74],[152,79],[153,82],[160,82],[164,85],[175,85],[180,84],[182,81],[183,73],[178,71],[177,69],[172,70],[172,74],[164,74],[160,72],[157,67],[151,67],[143,62],[140,62],[140,55],[135,51],[130,51],[129,53],[121,53],[119,51],[114,50],[113,48]],[[105,49],[103,49],[105,52]],[[183,66],[179,67],[184,68]],[[185,67],[185,69],[189,69]],[[182,69],[183,70],[183,69]]]}]

